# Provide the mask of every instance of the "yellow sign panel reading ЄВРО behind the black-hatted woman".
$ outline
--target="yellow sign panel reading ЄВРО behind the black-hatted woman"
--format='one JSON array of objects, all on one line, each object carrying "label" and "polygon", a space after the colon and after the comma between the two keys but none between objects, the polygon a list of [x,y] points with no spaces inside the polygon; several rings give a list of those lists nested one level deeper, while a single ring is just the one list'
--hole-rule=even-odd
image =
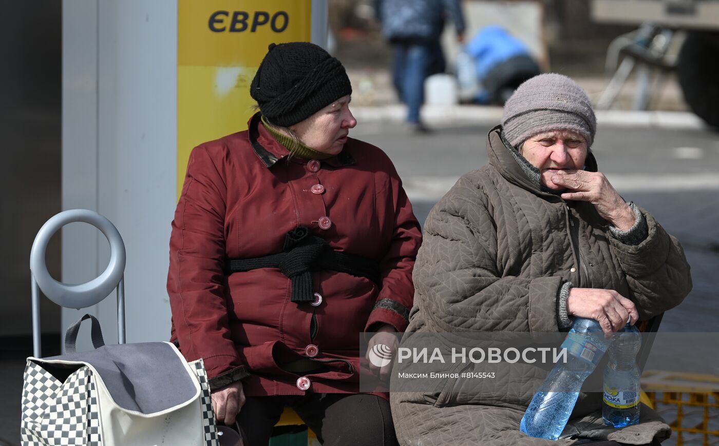
[{"label": "yellow sign panel reading \u0404\u0412\u0420\u041e behind the black-hatted woman", "polygon": [[247,129],[267,45],[308,42],[311,0],[178,0],[178,196],[197,144]]}]

